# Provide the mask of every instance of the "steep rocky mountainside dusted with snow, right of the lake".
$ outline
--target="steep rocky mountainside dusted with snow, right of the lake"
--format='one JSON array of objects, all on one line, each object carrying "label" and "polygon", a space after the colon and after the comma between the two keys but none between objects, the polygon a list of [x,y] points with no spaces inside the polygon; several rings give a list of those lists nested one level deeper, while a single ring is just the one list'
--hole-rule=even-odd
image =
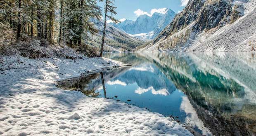
[{"label": "steep rocky mountainside dusted with snow, right of the lake", "polygon": [[[249,41],[256,38],[256,28],[252,25],[256,20],[256,0],[190,0],[185,9],[177,14],[173,21],[145,48],[146,52],[232,52],[250,51]],[[236,30],[233,38],[236,45],[224,42],[229,35],[220,37],[222,33],[240,27],[239,22],[246,24],[244,30],[248,39],[240,39]],[[231,29],[232,27],[232,29]],[[252,29],[252,30],[251,30]],[[254,35],[254,37],[251,37]],[[213,37],[218,37],[213,40]],[[247,40],[248,42],[243,42]],[[211,42],[218,41],[217,45],[209,46]],[[228,42],[232,43],[232,40]],[[253,42],[253,40],[252,40]],[[255,41],[256,42],[256,41]],[[205,44],[207,43],[207,44]],[[225,44],[225,45],[224,45]],[[256,44],[256,43],[255,43]]]}]

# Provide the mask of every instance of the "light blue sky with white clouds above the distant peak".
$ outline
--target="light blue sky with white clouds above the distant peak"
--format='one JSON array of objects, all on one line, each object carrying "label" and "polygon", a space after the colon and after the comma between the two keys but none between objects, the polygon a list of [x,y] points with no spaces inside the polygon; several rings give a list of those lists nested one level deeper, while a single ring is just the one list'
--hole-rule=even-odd
[{"label": "light blue sky with white clouds above the distant peak", "polygon": [[[170,8],[175,13],[178,13],[185,7],[187,2],[188,0],[115,0],[114,3],[117,7],[117,15],[115,17],[119,20],[136,20],[140,14],[151,14],[161,11],[163,8]],[[103,4],[103,2],[99,3],[101,7]]]}]

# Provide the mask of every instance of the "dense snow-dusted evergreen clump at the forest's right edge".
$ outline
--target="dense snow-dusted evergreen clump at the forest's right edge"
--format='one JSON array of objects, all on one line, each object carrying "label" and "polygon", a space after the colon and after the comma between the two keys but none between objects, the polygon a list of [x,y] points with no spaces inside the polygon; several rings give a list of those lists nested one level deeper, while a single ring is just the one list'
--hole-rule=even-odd
[{"label": "dense snow-dusted evergreen clump at the forest's right edge", "polygon": [[80,45],[82,37],[97,30],[91,22],[92,18],[100,19],[100,7],[97,0],[66,0],[63,7],[62,27],[66,43],[69,47]]}]

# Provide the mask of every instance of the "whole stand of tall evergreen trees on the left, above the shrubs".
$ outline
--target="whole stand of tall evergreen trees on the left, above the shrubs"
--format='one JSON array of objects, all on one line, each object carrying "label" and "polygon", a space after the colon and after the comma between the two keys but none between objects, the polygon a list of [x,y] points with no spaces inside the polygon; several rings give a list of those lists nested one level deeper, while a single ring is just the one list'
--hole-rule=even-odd
[{"label": "whole stand of tall evergreen trees on the left, above the shrubs", "polygon": [[54,44],[54,35],[59,35],[57,42],[73,47],[87,40],[88,33],[97,32],[92,20],[100,20],[100,10],[97,0],[0,0],[0,30],[15,31],[14,39],[24,34],[44,38],[50,44]]}]

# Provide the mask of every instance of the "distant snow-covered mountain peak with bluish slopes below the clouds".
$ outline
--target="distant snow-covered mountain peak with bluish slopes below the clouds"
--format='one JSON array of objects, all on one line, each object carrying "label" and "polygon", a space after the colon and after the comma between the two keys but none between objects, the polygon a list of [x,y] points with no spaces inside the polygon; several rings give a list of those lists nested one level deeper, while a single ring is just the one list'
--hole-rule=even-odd
[{"label": "distant snow-covered mountain peak with bluish slopes below the clouds", "polygon": [[173,20],[174,16],[175,12],[165,9],[162,13],[155,12],[152,16],[146,14],[138,16],[136,21],[125,20],[118,24],[110,24],[137,38],[154,39]]}]

